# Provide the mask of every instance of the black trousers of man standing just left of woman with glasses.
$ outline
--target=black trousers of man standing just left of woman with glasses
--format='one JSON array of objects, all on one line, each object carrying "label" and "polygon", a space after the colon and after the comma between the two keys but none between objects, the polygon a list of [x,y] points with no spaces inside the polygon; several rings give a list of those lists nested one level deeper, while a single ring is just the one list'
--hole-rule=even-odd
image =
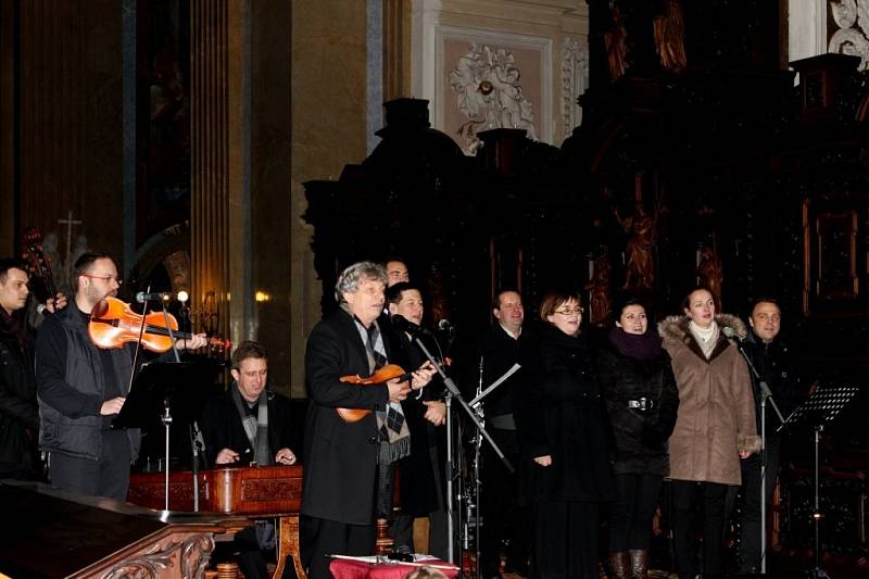
[{"label": "black trousers of man standing just left of woman with glasses", "polygon": [[[514,466],[518,465],[520,457],[516,431],[492,428],[489,433],[504,456]],[[508,543],[507,569],[524,571],[528,566],[528,508],[519,505],[516,474],[506,469],[488,442],[483,442],[480,479],[482,483],[480,514],[483,524],[480,538],[482,558],[480,567],[483,576],[496,576],[501,566],[503,542]]]}]

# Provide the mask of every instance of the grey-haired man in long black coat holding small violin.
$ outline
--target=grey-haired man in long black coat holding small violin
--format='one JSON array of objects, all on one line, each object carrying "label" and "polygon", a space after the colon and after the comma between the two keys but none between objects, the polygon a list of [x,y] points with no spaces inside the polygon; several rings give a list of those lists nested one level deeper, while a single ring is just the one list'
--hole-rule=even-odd
[{"label": "grey-haired man in long black coat holding small violin", "polygon": [[[328,579],[327,554],[369,555],[375,546],[378,468],[410,453],[410,432],[401,401],[423,388],[434,369],[426,363],[404,377],[361,386],[342,377],[366,377],[388,363],[389,347],[377,318],[383,311],[387,274],[381,265],[360,262],[338,277],[340,309],[317,324],[307,339],[302,483],[302,562],[311,579]],[[406,369],[406,368],[405,368]],[[344,421],[337,408],[375,411]]]}]

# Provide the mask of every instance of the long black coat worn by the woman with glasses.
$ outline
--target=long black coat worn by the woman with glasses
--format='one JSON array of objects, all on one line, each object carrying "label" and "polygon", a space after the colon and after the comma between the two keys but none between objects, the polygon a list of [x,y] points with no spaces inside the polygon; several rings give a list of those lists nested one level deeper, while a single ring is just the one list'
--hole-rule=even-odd
[{"label": "long black coat worn by the woman with glasses", "polygon": [[[584,337],[542,324],[519,342],[514,416],[531,500],[614,500],[606,413]],[[551,466],[533,462],[544,455]]]}]

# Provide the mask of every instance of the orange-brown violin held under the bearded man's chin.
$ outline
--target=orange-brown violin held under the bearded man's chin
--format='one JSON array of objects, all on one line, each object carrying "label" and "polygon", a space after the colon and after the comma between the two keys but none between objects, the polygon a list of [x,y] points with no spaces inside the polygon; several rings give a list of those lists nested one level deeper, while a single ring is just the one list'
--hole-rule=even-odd
[{"label": "orange-brown violin held under the bearded man's chin", "polygon": [[[172,335],[176,339],[189,339],[193,335],[186,331],[177,331],[178,320],[172,314],[163,311],[151,312],[144,316],[144,331],[142,330],[142,315],[130,310],[129,304],[122,302],[117,298],[106,297],[103,301],[93,306],[88,324],[88,335],[90,340],[99,348],[111,349],[121,348],[127,342],[139,340],[142,337],[142,347],[152,352],[167,352],[172,348],[172,338],[166,327],[172,328]],[[230,349],[231,342],[218,338],[210,338],[210,344]]]}]

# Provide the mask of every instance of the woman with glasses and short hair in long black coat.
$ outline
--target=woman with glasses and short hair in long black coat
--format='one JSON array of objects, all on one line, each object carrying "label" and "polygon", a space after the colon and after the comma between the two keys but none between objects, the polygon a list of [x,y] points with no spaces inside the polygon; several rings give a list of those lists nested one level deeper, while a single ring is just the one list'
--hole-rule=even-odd
[{"label": "woman with glasses and short hair in long black coat", "polygon": [[596,578],[597,508],[615,499],[606,414],[578,293],[550,292],[519,341],[517,435],[531,502],[532,578]]}]

